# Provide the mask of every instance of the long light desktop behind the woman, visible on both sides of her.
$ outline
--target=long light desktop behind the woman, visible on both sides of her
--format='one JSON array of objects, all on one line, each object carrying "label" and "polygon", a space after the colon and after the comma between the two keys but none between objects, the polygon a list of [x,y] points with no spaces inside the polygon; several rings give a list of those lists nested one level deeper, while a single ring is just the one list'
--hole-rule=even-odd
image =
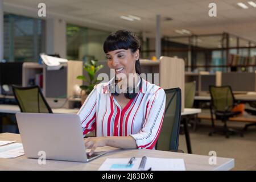
[{"label": "long light desktop behind the woman, visible on both sides of her", "polygon": [[[64,108],[56,108],[52,109],[53,113],[64,113],[64,114],[76,114],[79,109],[64,109]],[[0,113],[8,113],[8,114],[15,114],[20,112],[18,105],[0,105]],[[194,109],[194,108],[185,108],[181,115],[188,115],[188,114],[198,114],[201,113],[201,109]]]}]

